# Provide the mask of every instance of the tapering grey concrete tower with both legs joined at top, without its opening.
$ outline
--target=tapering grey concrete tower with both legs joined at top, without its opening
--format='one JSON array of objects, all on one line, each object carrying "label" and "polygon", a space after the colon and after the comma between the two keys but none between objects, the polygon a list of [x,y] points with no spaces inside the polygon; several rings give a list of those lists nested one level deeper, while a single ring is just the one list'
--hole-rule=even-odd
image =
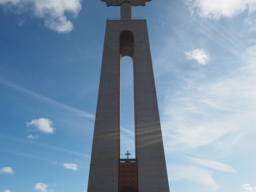
[{"label": "tapering grey concrete tower with both legs joined at top, without its opening", "polygon": [[139,192],[169,192],[146,20],[107,21],[88,192],[118,192],[120,33],[134,35],[135,143]]}]

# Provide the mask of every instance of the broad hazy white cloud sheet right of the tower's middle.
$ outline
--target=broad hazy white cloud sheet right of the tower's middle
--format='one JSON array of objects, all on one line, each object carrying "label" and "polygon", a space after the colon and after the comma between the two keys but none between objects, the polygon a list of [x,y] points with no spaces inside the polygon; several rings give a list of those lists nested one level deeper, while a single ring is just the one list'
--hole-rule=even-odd
[{"label": "broad hazy white cloud sheet right of the tower's middle", "polygon": [[253,130],[255,50],[255,46],[249,47],[244,53],[243,65],[228,75],[214,81],[187,78],[174,94],[166,89],[162,127],[167,150],[198,148],[212,143],[219,147],[220,138]]}]

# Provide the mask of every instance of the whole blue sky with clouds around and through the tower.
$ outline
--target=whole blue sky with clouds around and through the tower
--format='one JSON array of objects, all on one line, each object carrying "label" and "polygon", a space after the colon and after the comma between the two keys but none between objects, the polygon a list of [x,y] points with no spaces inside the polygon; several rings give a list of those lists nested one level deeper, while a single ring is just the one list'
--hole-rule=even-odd
[{"label": "whole blue sky with clouds around and through the tower", "polygon": [[[87,190],[105,24],[119,11],[0,0],[0,192]],[[256,0],[153,0],[133,16],[147,18],[170,191],[256,192]]]}]

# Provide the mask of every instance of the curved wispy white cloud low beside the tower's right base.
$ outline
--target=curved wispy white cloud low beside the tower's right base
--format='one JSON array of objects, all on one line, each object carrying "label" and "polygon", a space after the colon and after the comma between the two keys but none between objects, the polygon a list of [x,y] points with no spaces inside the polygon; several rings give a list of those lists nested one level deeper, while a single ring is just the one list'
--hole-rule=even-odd
[{"label": "curved wispy white cloud low beside the tower's right base", "polygon": [[205,191],[216,191],[219,185],[213,180],[210,171],[193,166],[170,165],[167,166],[168,179],[170,182],[188,179],[200,185],[207,187]]}]

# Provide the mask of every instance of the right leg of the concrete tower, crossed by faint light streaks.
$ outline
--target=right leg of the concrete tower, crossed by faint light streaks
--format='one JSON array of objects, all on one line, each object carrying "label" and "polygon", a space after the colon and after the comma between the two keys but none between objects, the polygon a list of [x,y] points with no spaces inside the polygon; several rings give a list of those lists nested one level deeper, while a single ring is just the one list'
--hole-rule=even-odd
[{"label": "right leg of the concrete tower, crossed by faint light streaks", "polygon": [[135,140],[139,192],[169,192],[146,20],[134,25]]}]

